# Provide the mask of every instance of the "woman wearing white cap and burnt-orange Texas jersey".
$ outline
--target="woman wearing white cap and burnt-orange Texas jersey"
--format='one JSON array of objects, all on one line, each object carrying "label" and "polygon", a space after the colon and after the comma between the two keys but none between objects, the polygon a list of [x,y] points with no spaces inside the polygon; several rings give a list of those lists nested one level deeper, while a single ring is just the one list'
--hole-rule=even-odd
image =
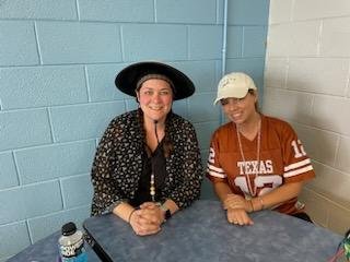
[{"label": "woman wearing white cap and burnt-orange Texas jersey", "polygon": [[245,73],[223,76],[214,102],[230,122],[212,135],[207,176],[228,221],[253,225],[249,213],[271,209],[305,221],[298,195],[315,174],[291,126],[258,111],[258,93]]}]

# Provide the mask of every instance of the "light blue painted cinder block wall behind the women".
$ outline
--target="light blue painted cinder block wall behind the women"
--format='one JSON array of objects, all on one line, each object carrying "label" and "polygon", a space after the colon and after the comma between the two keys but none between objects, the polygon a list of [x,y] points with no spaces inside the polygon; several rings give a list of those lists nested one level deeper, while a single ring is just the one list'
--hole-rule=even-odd
[{"label": "light blue painted cinder block wall behind the women", "polygon": [[[223,0],[0,1],[0,262],[89,216],[90,168],[109,120],[137,107],[114,86],[127,64],[161,60],[197,90],[191,120],[203,163],[220,124]],[[262,88],[268,0],[229,0],[226,72]],[[213,198],[203,183],[202,198]]]}]

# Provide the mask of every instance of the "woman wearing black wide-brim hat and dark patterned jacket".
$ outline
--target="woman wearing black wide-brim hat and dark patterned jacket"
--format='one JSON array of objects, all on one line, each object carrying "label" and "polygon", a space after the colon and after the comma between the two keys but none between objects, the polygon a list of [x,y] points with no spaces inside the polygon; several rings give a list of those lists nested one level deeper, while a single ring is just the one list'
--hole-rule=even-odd
[{"label": "woman wearing black wide-brim hat and dark patterned jacket", "polygon": [[192,124],[172,112],[192,82],[164,63],[125,68],[116,86],[139,109],[116,117],[101,139],[92,167],[92,215],[113,212],[137,235],[156,234],[163,222],[199,198],[202,166]]}]

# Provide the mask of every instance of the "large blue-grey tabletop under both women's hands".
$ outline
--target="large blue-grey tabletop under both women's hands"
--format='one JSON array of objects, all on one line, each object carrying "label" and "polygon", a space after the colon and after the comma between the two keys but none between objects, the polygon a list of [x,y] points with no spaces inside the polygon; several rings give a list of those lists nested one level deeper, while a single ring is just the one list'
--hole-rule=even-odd
[{"label": "large blue-grey tabletop under both women's hands", "polygon": [[253,213],[253,226],[229,224],[218,201],[197,201],[177,212],[153,236],[139,237],[106,214],[83,226],[106,258],[103,261],[320,262],[337,250],[342,237],[273,211]]}]

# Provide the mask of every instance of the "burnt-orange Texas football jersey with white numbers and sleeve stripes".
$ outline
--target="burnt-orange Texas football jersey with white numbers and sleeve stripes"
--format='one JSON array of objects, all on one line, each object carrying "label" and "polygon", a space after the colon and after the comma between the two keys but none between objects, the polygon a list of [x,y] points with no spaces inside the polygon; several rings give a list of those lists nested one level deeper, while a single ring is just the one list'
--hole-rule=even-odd
[{"label": "burnt-orange Texas football jersey with white numbers and sleeve stripes", "polygon": [[[249,195],[248,177],[252,188],[257,188],[257,195],[264,195],[283,183],[315,177],[311,159],[289,123],[261,116],[260,135],[258,157],[257,136],[249,141],[241,134],[244,162],[235,124],[229,122],[220,127],[211,138],[208,178],[212,182],[226,182],[233,193]],[[294,214],[302,211],[296,202],[294,198],[275,207],[279,212]]]}]

